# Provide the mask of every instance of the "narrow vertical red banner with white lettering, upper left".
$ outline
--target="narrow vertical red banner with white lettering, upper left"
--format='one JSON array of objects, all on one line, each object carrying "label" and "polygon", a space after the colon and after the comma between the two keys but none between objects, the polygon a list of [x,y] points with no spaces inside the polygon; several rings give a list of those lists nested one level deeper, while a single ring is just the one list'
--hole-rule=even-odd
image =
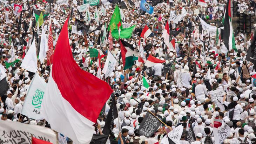
[{"label": "narrow vertical red banner with white lettering, upper left", "polygon": [[52,23],[50,23],[48,34],[48,51],[47,51],[47,66],[53,63],[53,36],[52,36]]}]

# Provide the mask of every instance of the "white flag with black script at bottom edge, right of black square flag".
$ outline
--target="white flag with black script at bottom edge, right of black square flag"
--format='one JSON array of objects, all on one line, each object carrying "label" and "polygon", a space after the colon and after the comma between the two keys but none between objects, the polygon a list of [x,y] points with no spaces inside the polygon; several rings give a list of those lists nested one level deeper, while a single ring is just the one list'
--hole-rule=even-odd
[{"label": "white flag with black script at bottom edge, right of black square flag", "polygon": [[180,139],[181,135],[183,132],[183,126],[179,125],[172,131],[168,133],[168,135],[164,136],[163,139],[161,140],[161,144],[169,144],[168,137],[175,143],[175,144],[180,144]]}]

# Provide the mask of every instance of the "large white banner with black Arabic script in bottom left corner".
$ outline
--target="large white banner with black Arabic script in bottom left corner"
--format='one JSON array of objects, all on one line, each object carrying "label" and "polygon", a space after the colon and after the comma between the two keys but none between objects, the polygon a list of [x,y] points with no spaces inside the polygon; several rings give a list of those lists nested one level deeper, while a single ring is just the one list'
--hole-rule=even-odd
[{"label": "large white banner with black Arabic script in bottom left corner", "polygon": [[0,142],[3,144],[31,144],[31,135],[53,144],[57,142],[55,132],[49,128],[13,121],[0,121]]}]

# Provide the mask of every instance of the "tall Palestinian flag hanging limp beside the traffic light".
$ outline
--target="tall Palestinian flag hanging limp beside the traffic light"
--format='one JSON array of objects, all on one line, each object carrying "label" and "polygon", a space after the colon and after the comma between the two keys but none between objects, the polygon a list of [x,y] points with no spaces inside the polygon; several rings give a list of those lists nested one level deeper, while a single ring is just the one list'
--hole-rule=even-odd
[{"label": "tall Palestinian flag hanging limp beside the traffic light", "polygon": [[234,49],[237,52],[236,44],[235,44],[235,37],[233,33],[233,28],[231,25],[231,7],[230,7],[230,0],[227,2],[226,11],[224,14],[224,31],[223,31],[223,39],[224,44],[228,50]]}]

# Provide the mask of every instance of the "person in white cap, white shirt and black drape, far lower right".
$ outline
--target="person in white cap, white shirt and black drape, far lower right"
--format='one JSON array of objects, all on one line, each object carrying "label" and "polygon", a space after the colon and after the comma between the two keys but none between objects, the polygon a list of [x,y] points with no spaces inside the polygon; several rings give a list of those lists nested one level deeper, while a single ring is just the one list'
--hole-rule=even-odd
[{"label": "person in white cap, white shirt and black drape, far lower right", "polygon": [[[228,107],[227,107],[227,111],[228,111],[227,114],[228,114],[228,117],[230,118],[230,121],[233,122],[234,128],[237,128],[236,123],[238,121],[240,121],[240,114],[241,114],[241,112],[243,112],[243,109],[242,109],[241,105],[237,103],[237,101],[238,101],[237,96],[231,97],[231,99],[232,99],[232,102],[230,104],[228,104]],[[231,112],[231,114],[230,114],[230,112]]]}]

